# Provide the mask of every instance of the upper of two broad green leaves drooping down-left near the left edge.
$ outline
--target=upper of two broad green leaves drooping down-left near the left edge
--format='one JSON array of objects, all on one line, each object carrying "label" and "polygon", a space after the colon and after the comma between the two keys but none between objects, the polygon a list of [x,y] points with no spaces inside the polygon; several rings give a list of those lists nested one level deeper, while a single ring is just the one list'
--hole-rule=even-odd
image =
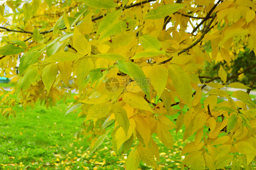
[{"label": "upper of two broad green leaves drooping down-left near the left edge", "polygon": [[20,59],[19,72],[20,75],[26,70],[29,66],[33,65],[38,57],[41,55],[42,51],[28,51]]}]

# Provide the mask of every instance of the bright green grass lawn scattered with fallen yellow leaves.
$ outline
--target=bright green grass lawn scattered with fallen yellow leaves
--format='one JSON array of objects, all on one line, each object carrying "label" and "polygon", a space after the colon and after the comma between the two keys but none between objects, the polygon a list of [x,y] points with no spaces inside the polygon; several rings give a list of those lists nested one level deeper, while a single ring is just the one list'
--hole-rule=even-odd
[{"label": "bright green grass lawn scattered with fallen yellow leaves", "polygon": [[[202,97],[201,103],[205,100]],[[103,144],[91,155],[89,136],[84,140],[77,138],[76,134],[82,128],[81,124],[85,118],[77,118],[79,111],[67,114],[68,103],[60,100],[56,106],[47,109],[36,104],[34,109],[23,109],[16,105],[13,110],[17,116],[5,119],[0,118],[0,169],[125,169],[124,162],[127,154],[120,158],[112,149],[111,133]],[[221,100],[219,100],[220,102]],[[179,108],[179,106],[175,106]],[[184,107],[184,110],[187,108]],[[172,121],[177,115],[169,117]],[[112,128],[112,127],[109,127]],[[180,156],[181,149],[193,136],[182,143],[185,128],[175,133],[174,149],[166,148],[157,138],[152,137],[159,144],[160,169],[180,169],[184,156]],[[207,128],[206,128],[207,130]],[[143,162],[141,169],[154,169],[146,166]]]}]

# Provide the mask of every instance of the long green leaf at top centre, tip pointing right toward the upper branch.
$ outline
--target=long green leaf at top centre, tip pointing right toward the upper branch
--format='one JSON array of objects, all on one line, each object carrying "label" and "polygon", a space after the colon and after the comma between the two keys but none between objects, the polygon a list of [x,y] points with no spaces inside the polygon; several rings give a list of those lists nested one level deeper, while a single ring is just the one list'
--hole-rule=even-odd
[{"label": "long green leaf at top centre, tip pointing right toward the upper branch", "polygon": [[150,19],[150,20],[155,20],[155,19],[161,19],[164,18],[168,15],[173,14],[174,12],[177,12],[179,9],[181,9],[183,6],[186,4],[166,4],[160,7],[157,7],[154,10],[149,11],[145,16],[144,20]]}]

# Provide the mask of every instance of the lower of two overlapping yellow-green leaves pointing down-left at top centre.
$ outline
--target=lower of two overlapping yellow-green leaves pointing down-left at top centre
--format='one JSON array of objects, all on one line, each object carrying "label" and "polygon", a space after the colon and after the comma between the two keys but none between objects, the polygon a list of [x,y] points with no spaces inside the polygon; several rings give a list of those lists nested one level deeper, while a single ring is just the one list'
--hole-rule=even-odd
[{"label": "lower of two overlapping yellow-green leaves pointing down-left at top centre", "polygon": [[98,42],[110,35],[116,35],[125,31],[126,27],[127,27],[126,21],[118,20],[112,23],[100,34]]}]

